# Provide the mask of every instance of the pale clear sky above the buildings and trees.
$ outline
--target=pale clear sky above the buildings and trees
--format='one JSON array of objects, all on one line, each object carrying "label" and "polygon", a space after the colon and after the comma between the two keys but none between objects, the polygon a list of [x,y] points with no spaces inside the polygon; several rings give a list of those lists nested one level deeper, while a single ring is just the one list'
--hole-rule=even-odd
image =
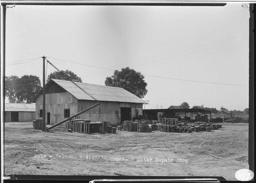
[{"label": "pale clear sky above the buildings and trees", "polygon": [[[182,102],[190,107],[248,108],[246,3],[16,5],[6,12],[6,76],[36,75],[42,81],[42,56],[59,70],[71,70],[83,82],[99,85],[114,70],[129,66],[145,76],[145,109]],[[48,64],[47,75],[53,71]]]}]

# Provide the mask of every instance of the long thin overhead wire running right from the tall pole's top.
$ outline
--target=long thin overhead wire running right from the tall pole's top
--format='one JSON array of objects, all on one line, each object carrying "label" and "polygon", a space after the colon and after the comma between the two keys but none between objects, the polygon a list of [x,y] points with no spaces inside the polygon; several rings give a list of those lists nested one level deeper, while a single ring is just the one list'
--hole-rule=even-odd
[{"label": "long thin overhead wire running right from the tall pole's top", "polygon": [[[51,58],[51,57],[47,57],[47,58]],[[64,62],[69,62],[69,63],[75,63],[75,64],[79,64],[79,65],[90,66],[90,67],[102,68],[102,69],[104,69],[104,70],[115,71],[115,70],[113,70],[113,69],[111,69],[111,68],[104,68],[104,67],[92,66],[92,65],[87,65],[87,64],[82,64],[82,63],[67,61],[67,60],[61,60],[61,59],[57,59],[57,58],[51,58],[51,59],[60,60],[60,61],[64,61]],[[155,77],[155,78],[163,78],[163,79],[178,80],[178,81],[189,81],[189,82],[196,82],[196,83],[222,84],[222,85],[230,85],[230,86],[248,86],[248,85],[244,85],[244,84],[229,84],[229,83],[219,83],[219,82],[206,82],[206,81],[196,81],[196,80],[187,80],[187,79],[167,78],[167,77],[152,76],[152,75],[145,75],[145,74],[143,74],[143,75],[144,75],[144,76],[149,76],[149,77]]]}]

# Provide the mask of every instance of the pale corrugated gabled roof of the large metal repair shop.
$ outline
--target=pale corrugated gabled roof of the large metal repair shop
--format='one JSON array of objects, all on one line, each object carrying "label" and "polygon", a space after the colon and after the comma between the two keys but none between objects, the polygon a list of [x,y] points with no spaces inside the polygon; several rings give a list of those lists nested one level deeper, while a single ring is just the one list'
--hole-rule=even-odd
[{"label": "pale corrugated gabled roof of the large metal repair shop", "polygon": [[[94,100],[88,95],[90,94],[98,101],[146,103],[144,100],[120,87],[75,82],[79,87],[88,93],[86,94],[71,81],[66,80],[51,79],[46,84],[46,87],[52,82],[65,89],[78,100]],[[42,94],[42,91],[40,94]]]}]

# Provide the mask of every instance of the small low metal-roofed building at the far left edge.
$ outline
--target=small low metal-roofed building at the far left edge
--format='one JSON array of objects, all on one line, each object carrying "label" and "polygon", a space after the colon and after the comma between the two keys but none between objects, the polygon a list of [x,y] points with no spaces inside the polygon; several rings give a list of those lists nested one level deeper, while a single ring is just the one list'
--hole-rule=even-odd
[{"label": "small low metal-roofed building at the far left edge", "polygon": [[5,104],[5,122],[25,122],[35,120],[35,104]]}]

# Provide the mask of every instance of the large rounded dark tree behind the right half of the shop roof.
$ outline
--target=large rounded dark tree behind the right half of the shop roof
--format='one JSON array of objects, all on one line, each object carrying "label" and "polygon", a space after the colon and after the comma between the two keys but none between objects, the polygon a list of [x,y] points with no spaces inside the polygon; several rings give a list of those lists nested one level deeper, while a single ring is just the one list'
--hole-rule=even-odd
[{"label": "large rounded dark tree behind the right half of the shop roof", "polygon": [[105,85],[121,87],[139,98],[143,98],[147,93],[144,76],[129,67],[122,68],[121,71],[114,71],[113,76],[106,77]]}]

